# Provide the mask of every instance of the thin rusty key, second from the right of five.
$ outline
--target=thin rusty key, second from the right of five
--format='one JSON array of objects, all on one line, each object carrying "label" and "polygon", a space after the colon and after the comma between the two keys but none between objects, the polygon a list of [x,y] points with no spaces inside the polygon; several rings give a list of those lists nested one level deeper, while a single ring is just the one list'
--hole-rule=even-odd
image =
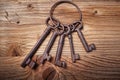
[{"label": "thin rusty key, second from the right of five", "polygon": [[76,60],[80,60],[80,55],[75,54],[74,51],[74,45],[73,45],[73,37],[72,37],[72,32],[74,31],[74,26],[69,26],[71,28],[70,33],[68,34],[68,39],[69,39],[69,44],[70,44],[70,50],[71,50],[71,57],[72,57],[72,62],[76,62]]}]

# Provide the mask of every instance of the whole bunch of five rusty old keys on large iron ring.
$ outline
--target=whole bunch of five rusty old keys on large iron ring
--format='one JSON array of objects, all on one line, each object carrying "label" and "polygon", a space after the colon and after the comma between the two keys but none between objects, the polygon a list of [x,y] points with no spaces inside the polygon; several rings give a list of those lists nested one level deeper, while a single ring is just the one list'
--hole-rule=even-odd
[{"label": "whole bunch of five rusty old keys on large iron ring", "polygon": [[[54,18],[53,12],[54,12],[55,8],[62,3],[69,3],[69,4],[72,4],[73,6],[75,6],[80,14],[79,20],[77,20],[71,24],[64,25],[59,20]],[[60,38],[58,41],[58,47],[57,47],[57,51],[56,51],[56,57],[55,57],[55,62],[54,62],[55,65],[59,66],[59,67],[63,67],[63,68],[66,68],[66,66],[67,66],[65,61],[61,61],[61,55],[62,55],[62,49],[64,46],[65,37],[68,37],[68,39],[69,39],[72,62],[75,63],[76,60],[80,60],[79,54],[75,54],[75,51],[74,51],[74,44],[73,44],[73,37],[72,37],[73,32],[77,32],[78,37],[80,38],[80,41],[82,42],[83,47],[85,48],[86,52],[91,52],[96,49],[94,44],[88,45],[88,43],[86,42],[84,35],[81,32],[81,30],[83,29],[82,13],[81,13],[79,7],[76,4],[72,3],[71,1],[56,2],[51,7],[50,17],[48,17],[46,19],[46,25],[47,25],[47,28],[45,29],[44,33],[41,35],[38,42],[35,44],[35,46],[32,48],[30,53],[26,56],[26,58],[22,62],[21,66],[23,68],[25,68],[26,66],[29,66],[30,68],[34,69],[38,64],[44,64],[46,60],[50,61],[52,59],[52,56],[49,53],[50,53],[50,50],[58,36],[60,36]],[[38,50],[38,48],[41,46],[43,41],[47,38],[47,36],[51,32],[52,32],[52,36],[45,48],[45,51],[44,51],[42,57],[40,57],[40,59],[37,59],[37,61],[33,61],[32,58],[35,55],[36,51]]]}]

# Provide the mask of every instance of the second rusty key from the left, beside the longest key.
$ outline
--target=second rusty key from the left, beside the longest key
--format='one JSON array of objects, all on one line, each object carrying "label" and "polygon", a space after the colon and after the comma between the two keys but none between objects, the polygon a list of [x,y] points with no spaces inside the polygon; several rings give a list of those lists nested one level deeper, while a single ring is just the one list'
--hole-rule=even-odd
[{"label": "second rusty key from the left, beside the longest key", "polygon": [[42,58],[40,59],[40,63],[41,63],[41,64],[44,64],[44,62],[45,62],[46,60],[48,60],[48,61],[51,60],[51,56],[49,55],[49,52],[50,52],[50,50],[51,50],[51,48],[52,48],[52,46],[53,46],[53,44],[54,44],[54,42],[55,42],[55,40],[56,40],[56,37],[57,37],[58,35],[62,34],[63,31],[64,31],[64,27],[63,27],[63,26],[60,26],[59,24],[58,24],[57,26],[58,26],[58,27],[53,31],[53,34],[52,34],[52,36],[51,36],[51,38],[50,38],[50,40],[49,40],[49,42],[48,42],[48,44],[47,44],[47,47],[45,48],[45,51],[44,51],[44,53],[43,53],[43,56],[42,56]]}]

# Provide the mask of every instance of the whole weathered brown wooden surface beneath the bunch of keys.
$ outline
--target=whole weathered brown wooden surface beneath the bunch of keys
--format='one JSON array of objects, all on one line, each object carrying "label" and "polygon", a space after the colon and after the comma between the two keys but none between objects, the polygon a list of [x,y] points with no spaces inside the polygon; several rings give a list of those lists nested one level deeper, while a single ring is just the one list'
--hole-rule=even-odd
[{"label": "whole weathered brown wooden surface beneath the bunch of keys", "polygon": [[[24,57],[8,57],[28,54],[47,27],[45,20],[55,1],[0,0],[0,80],[40,80],[43,69],[49,66],[57,70],[55,80],[58,79],[58,74],[60,80],[120,80],[119,0],[72,0],[83,14],[83,34],[89,44],[96,44],[97,50],[87,54],[74,33],[75,51],[80,54],[81,60],[73,64],[64,56],[68,63],[67,70],[46,63],[45,67],[39,67],[38,71],[31,71],[29,68],[20,67]],[[59,6],[55,16],[64,23],[78,19],[76,9],[70,5]],[[50,36],[37,54],[44,52]],[[56,53],[58,39],[51,50],[53,55]],[[70,56],[67,38],[63,55]]]}]

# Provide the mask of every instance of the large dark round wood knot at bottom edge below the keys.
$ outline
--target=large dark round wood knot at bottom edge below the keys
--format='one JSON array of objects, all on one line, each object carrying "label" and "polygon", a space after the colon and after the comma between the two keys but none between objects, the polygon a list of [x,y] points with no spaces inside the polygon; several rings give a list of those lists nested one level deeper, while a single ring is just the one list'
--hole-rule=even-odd
[{"label": "large dark round wood knot at bottom edge below the keys", "polygon": [[49,67],[42,73],[43,80],[53,80],[56,75],[56,70],[53,67]]}]

